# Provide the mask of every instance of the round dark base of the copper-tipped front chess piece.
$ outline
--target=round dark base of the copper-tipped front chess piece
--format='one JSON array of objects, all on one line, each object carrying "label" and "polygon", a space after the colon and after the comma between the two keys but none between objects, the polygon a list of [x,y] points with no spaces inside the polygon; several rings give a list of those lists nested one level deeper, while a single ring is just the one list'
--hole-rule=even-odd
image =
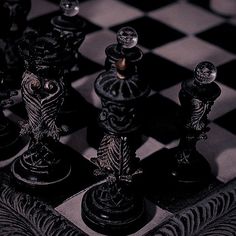
[{"label": "round dark base of the copper-tipped front chess piece", "polygon": [[141,197],[108,183],[88,190],[82,200],[82,218],[97,232],[108,235],[132,233],[144,221]]}]

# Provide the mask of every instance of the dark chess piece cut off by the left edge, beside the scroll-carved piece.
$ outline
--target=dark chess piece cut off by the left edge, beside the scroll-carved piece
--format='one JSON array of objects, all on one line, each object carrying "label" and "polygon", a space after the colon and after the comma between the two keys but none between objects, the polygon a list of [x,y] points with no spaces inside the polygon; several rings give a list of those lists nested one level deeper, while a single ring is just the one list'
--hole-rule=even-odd
[{"label": "dark chess piece cut off by the left edge, beside the scroll-carved piece", "polygon": [[0,167],[13,161],[14,156],[26,145],[26,140],[20,137],[20,129],[4,116],[3,108],[12,105],[11,97],[17,91],[10,91],[5,86],[5,75],[0,72]]}]

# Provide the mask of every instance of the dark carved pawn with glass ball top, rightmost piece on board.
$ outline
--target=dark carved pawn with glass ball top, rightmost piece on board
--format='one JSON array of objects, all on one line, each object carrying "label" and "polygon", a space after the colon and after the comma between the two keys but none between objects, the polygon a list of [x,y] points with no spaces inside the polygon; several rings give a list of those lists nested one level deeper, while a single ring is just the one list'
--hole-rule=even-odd
[{"label": "dark carved pawn with glass ball top, rightmost piece on board", "polygon": [[214,82],[216,72],[212,63],[201,62],[194,70],[194,78],[182,82],[179,93],[182,132],[178,147],[171,150],[175,159],[171,175],[179,182],[201,183],[211,177],[210,165],[196,150],[196,144],[207,138],[207,116],[221,93]]}]

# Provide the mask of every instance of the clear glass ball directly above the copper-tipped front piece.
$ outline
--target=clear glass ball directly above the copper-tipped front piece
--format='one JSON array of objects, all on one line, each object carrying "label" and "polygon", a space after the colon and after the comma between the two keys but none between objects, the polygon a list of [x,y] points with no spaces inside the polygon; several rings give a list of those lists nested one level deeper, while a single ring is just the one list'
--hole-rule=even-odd
[{"label": "clear glass ball directly above the copper-tipped front piece", "polygon": [[123,27],[117,32],[117,42],[123,48],[133,48],[138,43],[138,34],[132,27]]}]

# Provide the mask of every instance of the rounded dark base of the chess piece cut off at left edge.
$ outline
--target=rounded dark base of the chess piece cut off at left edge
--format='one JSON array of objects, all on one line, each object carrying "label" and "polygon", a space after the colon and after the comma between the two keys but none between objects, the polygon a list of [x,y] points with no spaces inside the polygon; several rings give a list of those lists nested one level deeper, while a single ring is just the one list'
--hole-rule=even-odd
[{"label": "rounded dark base of the chess piece cut off at left edge", "polygon": [[19,128],[7,118],[4,119],[4,125],[0,124],[0,167],[9,164],[27,143],[19,136]]}]

